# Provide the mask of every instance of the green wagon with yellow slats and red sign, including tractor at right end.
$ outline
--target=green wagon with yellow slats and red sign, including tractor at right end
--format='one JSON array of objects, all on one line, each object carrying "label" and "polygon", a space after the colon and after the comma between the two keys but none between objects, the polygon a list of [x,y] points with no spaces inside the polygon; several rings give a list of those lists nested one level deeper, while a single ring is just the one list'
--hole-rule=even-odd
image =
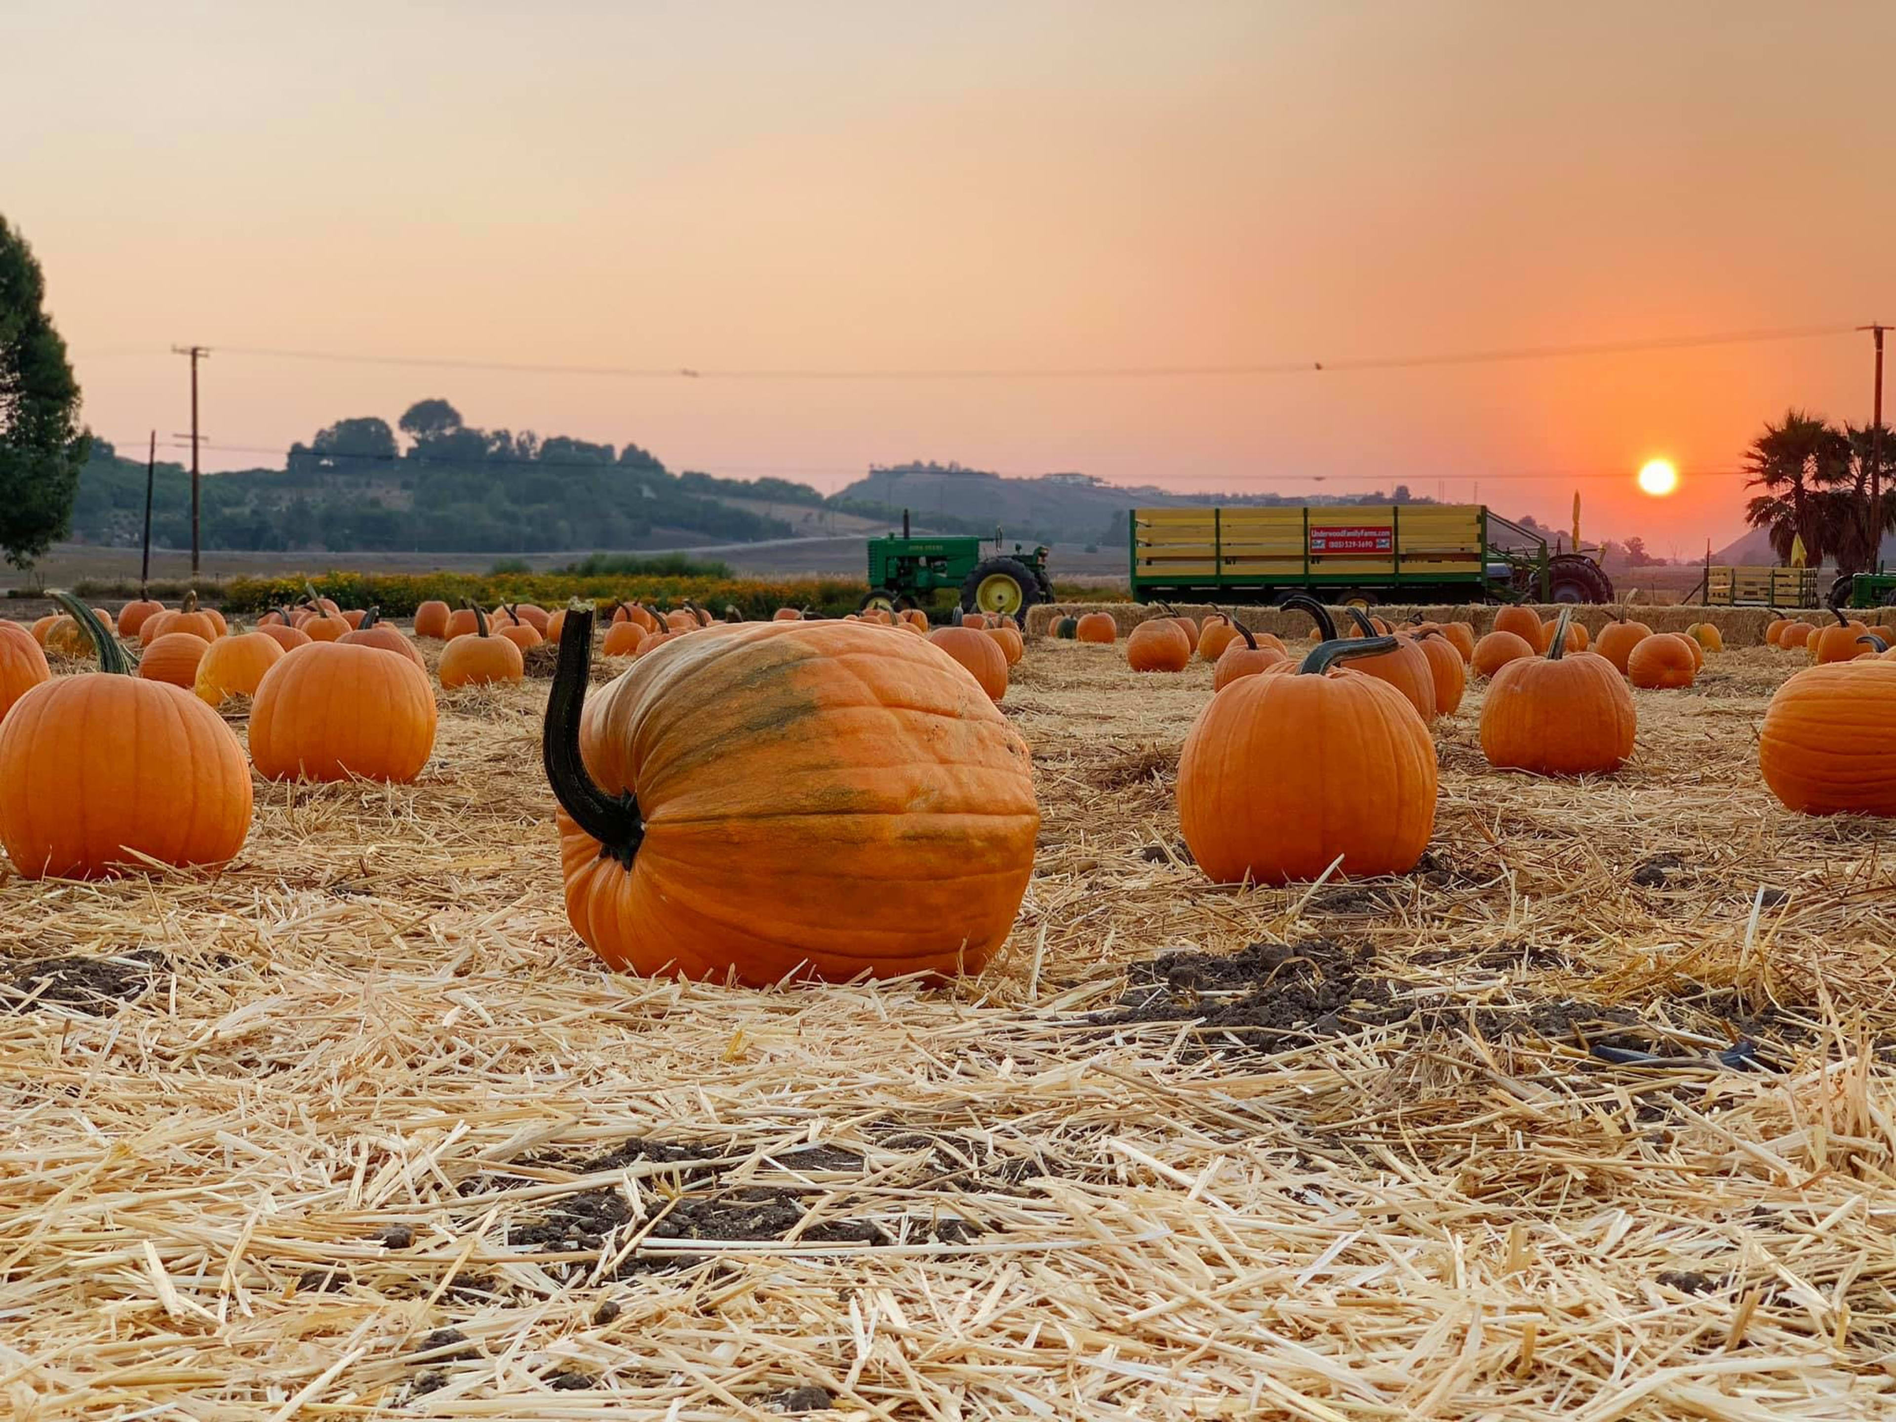
[{"label": "green wagon with yellow slats and red sign, including tractor at right end", "polygon": [[1598,563],[1485,504],[1134,508],[1130,552],[1141,603],[1613,601]]}]

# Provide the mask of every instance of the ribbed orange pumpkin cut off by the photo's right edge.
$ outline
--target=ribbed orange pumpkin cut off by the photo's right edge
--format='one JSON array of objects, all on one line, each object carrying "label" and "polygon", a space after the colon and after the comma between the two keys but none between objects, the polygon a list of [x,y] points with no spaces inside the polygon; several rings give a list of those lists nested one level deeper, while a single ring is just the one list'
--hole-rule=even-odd
[{"label": "ribbed orange pumpkin cut off by the photo's right edge", "polygon": [[1805,815],[1896,815],[1896,662],[1794,673],[1765,711],[1758,768]]}]

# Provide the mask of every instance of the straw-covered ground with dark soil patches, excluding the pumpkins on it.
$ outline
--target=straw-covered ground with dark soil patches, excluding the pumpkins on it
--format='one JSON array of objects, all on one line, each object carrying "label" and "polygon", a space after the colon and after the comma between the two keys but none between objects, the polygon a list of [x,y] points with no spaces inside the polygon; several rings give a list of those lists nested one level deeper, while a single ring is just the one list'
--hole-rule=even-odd
[{"label": "straw-covered ground with dark soil patches, excluding the pumpkins on it", "polygon": [[0,887],[0,1409],[1887,1418],[1896,865],[1761,787],[1792,665],[1589,783],[1473,688],[1413,876],[1232,889],[1210,669],[1035,641],[1037,870],[948,990],[601,971],[546,683],[446,696],[216,878]]}]

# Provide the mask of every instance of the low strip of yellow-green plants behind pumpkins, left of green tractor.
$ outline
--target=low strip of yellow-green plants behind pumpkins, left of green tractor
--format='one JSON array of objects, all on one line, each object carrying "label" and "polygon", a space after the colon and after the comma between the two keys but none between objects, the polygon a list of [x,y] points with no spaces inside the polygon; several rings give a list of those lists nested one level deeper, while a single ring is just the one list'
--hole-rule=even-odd
[{"label": "low strip of yellow-green plants behind pumpkins, left of green tractor", "polygon": [[736,607],[739,616],[768,618],[779,607],[813,607],[827,616],[853,612],[868,586],[849,578],[798,578],[762,582],[757,578],[683,576],[571,576],[563,573],[324,573],[303,578],[231,578],[224,584],[226,612],[267,612],[303,597],[303,584],[315,584],[341,607],[379,607],[387,616],[413,616],[421,603],[438,599],[459,607],[474,599],[495,603],[538,603],[559,607],[571,597],[592,601],[641,601],[675,607],[690,597],[698,607],[722,616]]}]

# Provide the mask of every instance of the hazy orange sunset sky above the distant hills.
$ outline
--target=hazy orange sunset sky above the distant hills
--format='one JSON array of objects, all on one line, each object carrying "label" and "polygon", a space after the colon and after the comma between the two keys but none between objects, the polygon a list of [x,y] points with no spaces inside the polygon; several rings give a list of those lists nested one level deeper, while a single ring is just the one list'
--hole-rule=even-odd
[{"label": "hazy orange sunset sky above the distant hills", "polygon": [[[6,11],[0,210],[119,442],[186,428],[174,341],[1018,370],[1896,320],[1888,0]],[[1145,381],[224,353],[205,430],[283,449],[425,394],[821,487],[906,457],[1287,493],[1481,480],[1551,520],[1579,487],[1589,537],[1691,556],[1741,529],[1716,472],[1759,421],[1868,421],[1869,339]],[[1687,470],[1668,501],[1632,487],[1653,453]]]}]

